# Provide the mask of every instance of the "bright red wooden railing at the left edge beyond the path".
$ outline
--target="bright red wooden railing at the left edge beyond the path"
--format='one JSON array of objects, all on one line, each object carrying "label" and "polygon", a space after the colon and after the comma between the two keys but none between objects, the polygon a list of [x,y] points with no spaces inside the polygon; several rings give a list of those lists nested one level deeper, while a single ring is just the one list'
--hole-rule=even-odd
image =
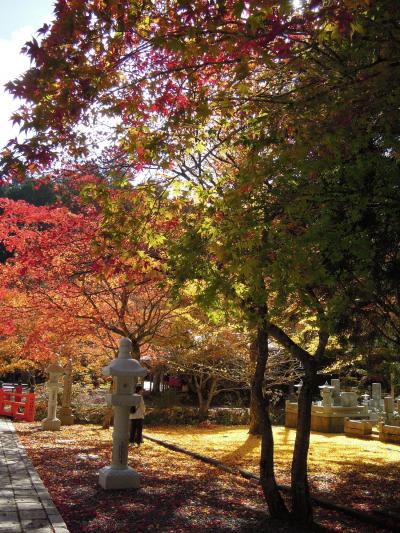
[{"label": "bright red wooden railing at the left edge beyond the path", "polygon": [[33,422],[35,418],[35,393],[23,390],[18,384],[6,390],[0,387],[0,416],[10,416],[14,420]]}]

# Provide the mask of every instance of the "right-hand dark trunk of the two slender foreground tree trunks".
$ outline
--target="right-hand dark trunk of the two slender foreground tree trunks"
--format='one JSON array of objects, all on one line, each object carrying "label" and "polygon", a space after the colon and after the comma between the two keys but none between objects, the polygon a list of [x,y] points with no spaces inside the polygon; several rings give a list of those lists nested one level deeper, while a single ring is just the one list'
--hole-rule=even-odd
[{"label": "right-hand dark trunk of the two slender foreground tree trunks", "polygon": [[315,372],[314,362],[305,365],[305,376],[298,400],[296,440],[291,469],[292,516],[296,523],[304,525],[313,522],[307,460],[310,446],[311,406]]}]

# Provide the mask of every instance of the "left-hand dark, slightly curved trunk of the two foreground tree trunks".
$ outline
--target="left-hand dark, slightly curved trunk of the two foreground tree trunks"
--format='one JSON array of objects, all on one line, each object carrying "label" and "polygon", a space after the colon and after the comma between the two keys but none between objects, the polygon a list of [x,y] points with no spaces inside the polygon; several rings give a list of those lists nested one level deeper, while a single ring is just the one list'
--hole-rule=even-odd
[{"label": "left-hand dark, slightly curved trunk of the two foreground tree trunks", "polygon": [[257,400],[261,421],[260,483],[271,518],[287,520],[289,513],[279,492],[274,472],[274,437],[269,418],[268,399],[263,392],[264,374],[268,360],[267,309],[261,309],[263,317],[257,330],[257,362],[252,391]]}]

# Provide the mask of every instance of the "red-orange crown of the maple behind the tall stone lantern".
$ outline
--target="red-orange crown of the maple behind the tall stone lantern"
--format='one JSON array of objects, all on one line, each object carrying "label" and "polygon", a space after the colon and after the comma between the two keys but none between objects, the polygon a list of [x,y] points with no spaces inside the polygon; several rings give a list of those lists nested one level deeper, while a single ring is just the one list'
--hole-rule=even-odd
[{"label": "red-orange crown of the maple behind the tall stone lantern", "polygon": [[[136,206],[137,219],[139,204],[143,215],[142,195],[121,196],[125,205]],[[2,288],[23,302],[10,297],[5,324],[16,327],[26,320],[24,313],[36,313],[24,349],[32,358],[36,352],[46,359],[44,352],[51,357],[55,346],[60,351],[70,344],[68,339],[91,336],[115,351],[117,336],[126,336],[139,358],[140,348],[161,335],[177,313],[160,259],[151,261],[139,234],[136,244],[130,243],[136,251],[125,250],[124,256],[104,244],[101,215],[93,205],[73,213],[66,207],[0,201],[0,240],[10,254],[1,265]]]}]

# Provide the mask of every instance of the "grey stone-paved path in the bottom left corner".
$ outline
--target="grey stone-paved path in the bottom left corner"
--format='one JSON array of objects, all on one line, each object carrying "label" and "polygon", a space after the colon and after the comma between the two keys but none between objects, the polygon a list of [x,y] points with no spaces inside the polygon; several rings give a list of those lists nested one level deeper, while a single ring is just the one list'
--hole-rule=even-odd
[{"label": "grey stone-paved path in the bottom left corner", "polygon": [[0,532],[25,531],[68,533],[13,423],[0,417]]}]

